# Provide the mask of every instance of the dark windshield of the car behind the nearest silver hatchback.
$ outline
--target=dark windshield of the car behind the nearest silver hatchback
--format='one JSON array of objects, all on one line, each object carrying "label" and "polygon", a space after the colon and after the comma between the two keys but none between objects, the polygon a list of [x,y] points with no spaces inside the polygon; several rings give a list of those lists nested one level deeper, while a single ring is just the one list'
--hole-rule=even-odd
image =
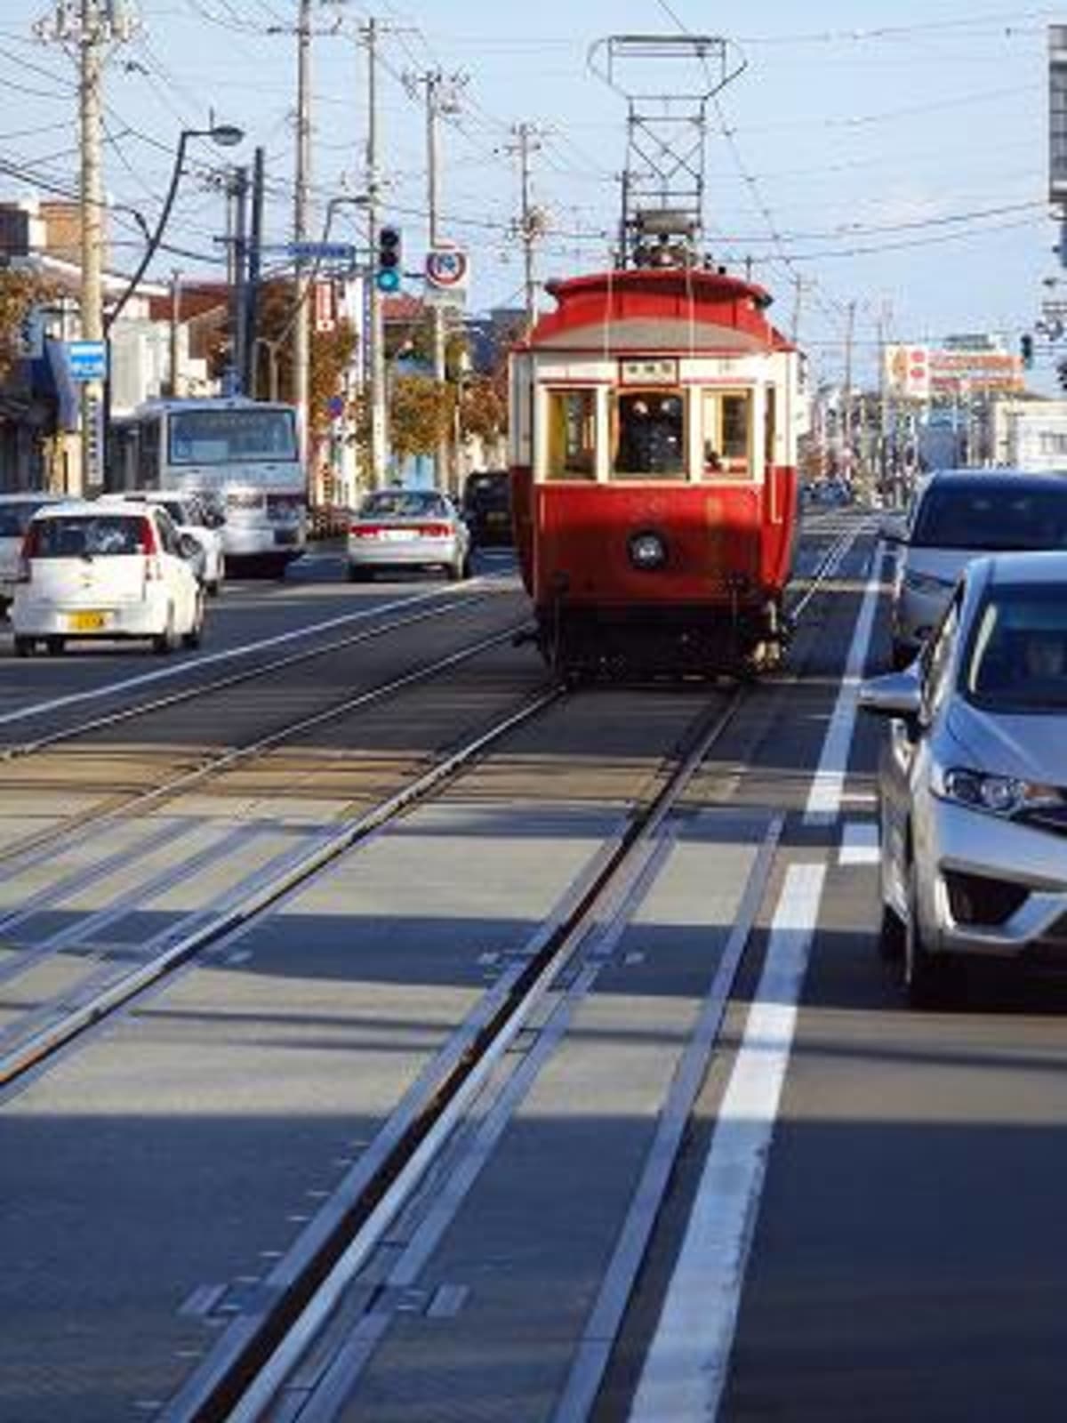
[{"label": "dark windshield of the car behind the nearest silver hatchback", "polygon": [[935,485],[919,505],[911,542],[989,552],[1067,548],[1067,480],[1047,490]]}]

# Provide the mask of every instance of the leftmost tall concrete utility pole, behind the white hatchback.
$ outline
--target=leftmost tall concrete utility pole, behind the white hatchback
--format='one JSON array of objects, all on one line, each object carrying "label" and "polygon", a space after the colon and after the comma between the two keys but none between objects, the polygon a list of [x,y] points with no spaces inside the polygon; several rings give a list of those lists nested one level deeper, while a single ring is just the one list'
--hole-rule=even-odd
[{"label": "leftmost tall concrete utility pole, behind the white hatchback", "polygon": [[[124,9],[114,0],[57,0],[54,13],[34,27],[38,38],[61,44],[78,63],[81,337],[87,342],[104,340],[101,90],[108,51],[134,34],[132,17]],[[81,471],[73,494],[102,485],[105,440],[102,381],[85,381],[81,387]]]}]

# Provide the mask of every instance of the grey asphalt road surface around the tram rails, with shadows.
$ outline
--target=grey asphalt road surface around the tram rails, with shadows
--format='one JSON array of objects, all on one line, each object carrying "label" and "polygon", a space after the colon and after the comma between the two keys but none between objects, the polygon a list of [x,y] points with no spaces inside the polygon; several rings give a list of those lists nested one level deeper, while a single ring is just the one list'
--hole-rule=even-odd
[{"label": "grey asphalt road surface around the tram rails, with shadows", "polygon": [[[851,519],[811,522],[802,569]],[[886,662],[888,572],[864,534],[713,747],[588,985],[562,982],[516,1040],[270,1416],[1060,1416],[1067,993],[1000,978],[915,1013],[876,956],[881,731],[855,717],[855,679]],[[43,776],[16,783],[10,763],[6,835],[58,822],[64,798],[92,810],[101,757],[196,758],[519,620],[506,556],[484,573],[444,618],[279,672],[269,694],[250,682],[78,739],[63,763],[30,757],[61,764],[47,807]],[[275,639],[312,647],[454,596],[340,575],[326,551],[283,585],[228,588],[203,653],[168,662],[16,662],[0,636],[0,731],[26,740],[161,690],[147,675],[185,686],[219,673],[209,655],[252,666]],[[343,820],[383,766],[410,774],[542,684],[532,649],[505,642],[309,733],[277,774],[145,813],[124,841],[0,864],[3,922],[46,896],[0,928],[0,1044],[87,963],[115,970]],[[168,1416],[721,696],[565,699],[0,1096],[0,1423]],[[721,1036],[606,1346],[642,1173],[747,887]]]}]

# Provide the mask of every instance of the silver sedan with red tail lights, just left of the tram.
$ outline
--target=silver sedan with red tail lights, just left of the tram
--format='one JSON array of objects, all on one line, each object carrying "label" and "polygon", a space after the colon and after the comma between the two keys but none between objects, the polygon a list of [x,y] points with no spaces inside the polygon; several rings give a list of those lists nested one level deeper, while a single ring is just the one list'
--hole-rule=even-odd
[{"label": "silver sedan with red tail lights, just left of the tram", "polygon": [[377,490],[349,525],[347,561],[351,582],[387,568],[444,568],[461,579],[471,571],[471,535],[444,494]]}]

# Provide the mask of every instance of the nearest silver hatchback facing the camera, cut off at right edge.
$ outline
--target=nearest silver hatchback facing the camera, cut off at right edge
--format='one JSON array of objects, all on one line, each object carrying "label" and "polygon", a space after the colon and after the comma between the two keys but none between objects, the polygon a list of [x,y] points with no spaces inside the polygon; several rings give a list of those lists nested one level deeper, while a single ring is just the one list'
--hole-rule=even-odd
[{"label": "nearest silver hatchback facing the camera, cut off at right edge", "polygon": [[972,562],[905,672],[879,770],[882,948],[916,1005],[967,958],[1067,966],[1067,554]]}]

